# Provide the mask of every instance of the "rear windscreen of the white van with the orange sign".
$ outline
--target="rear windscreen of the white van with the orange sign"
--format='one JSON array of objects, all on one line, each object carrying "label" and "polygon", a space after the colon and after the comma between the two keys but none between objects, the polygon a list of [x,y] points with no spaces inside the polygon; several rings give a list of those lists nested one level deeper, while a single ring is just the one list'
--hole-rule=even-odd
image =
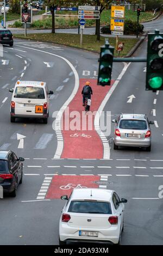
[{"label": "rear windscreen of the white van with the orange sign", "polygon": [[45,99],[43,88],[39,87],[16,87],[14,97],[26,99]]}]

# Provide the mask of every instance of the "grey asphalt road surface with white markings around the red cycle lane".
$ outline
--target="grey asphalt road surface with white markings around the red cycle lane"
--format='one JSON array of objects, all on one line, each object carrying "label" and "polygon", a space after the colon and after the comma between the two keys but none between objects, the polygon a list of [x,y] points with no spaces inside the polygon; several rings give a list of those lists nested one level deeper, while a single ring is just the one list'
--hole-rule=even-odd
[{"label": "grey asphalt road surface with white markings around the red cycle lane", "polygon": [[[151,29],[154,28],[155,22]],[[135,56],[146,56],[146,51],[145,40]],[[158,197],[159,186],[163,185],[162,92],[145,91],[145,63],[114,63],[112,79],[118,83],[104,110],[111,112],[108,112],[109,118],[110,114],[115,118],[121,112],[146,113],[150,120],[155,121],[152,151],[114,150],[111,125],[110,135],[106,137],[110,147],[109,160],[53,159],[58,139],[53,130],[52,115],[72,94],[76,81],[66,60],[74,66],[79,79],[95,79],[98,57],[95,53],[41,42],[15,40],[13,47],[4,47],[4,56],[0,59],[0,149],[11,149],[26,160],[23,183],[18,187],[17,197],[0,199],[3,220],[0,245],[57,245],[59,217],[65,202],[59,199],[55,190],[53,198],[37,199],[40,188],[48,178],[53,179],[55,185],[55,176],[60,178],[60,186],[65,185],[65,179],[68,183],[73,183],[71,179],[79,183],[82,174],[90,175],[92,180],[105,175],[107,179],[99,179],[98,184],[106,185],[117,191],[120,197],[128,199],[122,245],[162,245],[163,208],[162,199]],[[49,68],[46,63],[49,63]],[[26,119],[10,123],[11,95],[8,90],[18,79],[46,81],[48,88],[54,91],[47,125]],[[128,96],[132,94],[135,99],[127,103]],[[26,136],[23,149],[18,149],[16,133]]]}]

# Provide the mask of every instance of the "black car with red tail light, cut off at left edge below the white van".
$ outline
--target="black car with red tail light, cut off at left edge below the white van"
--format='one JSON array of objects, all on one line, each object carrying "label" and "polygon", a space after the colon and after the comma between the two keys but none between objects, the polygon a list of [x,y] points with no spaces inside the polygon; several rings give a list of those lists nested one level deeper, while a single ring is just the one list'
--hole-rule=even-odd
[{"label": "black car with red tail light, cut off at left edge below the white van", "polygon": [[0,150],[0,186],[3,193],[16,197],[17,186],[23,179],[23,157],[17,158],[12,151]]}]

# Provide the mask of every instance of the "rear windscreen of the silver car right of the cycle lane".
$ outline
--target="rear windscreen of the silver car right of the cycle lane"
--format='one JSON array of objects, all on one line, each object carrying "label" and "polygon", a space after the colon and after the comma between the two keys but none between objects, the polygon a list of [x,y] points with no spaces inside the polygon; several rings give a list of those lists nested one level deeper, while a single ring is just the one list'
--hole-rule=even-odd
[{"label": "rear windscreen of the silver car right of the cycle lane", "polygon": [[147,123],[144,120],[121,120],[120,129],[131,129],[131,130],[146,130]]}]

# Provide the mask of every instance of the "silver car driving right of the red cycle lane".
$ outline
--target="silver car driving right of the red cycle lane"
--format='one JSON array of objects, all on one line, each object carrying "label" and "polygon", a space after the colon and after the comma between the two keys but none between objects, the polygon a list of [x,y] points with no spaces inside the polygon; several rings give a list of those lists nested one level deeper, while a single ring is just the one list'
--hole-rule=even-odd
[{"label": "silver car driving right of the red cycle lane", "polygon": [[114,149],[118,146],[125,147],[145,147],[146,151],[151,151],[151,129],[146,114],[121,114],[115,123]]}]

